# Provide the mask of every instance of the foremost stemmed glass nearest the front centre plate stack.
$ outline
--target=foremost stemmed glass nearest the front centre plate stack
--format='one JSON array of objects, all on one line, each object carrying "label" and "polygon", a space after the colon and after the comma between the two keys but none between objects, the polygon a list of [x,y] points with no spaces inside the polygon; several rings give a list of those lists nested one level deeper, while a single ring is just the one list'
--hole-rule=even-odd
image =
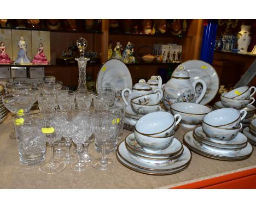
[{"label": "foremost stemmed glass nearest the front centre plate stack", "polygon": [[116,133],[117,117],[112,114],[98,114],[94,115],[92,120],[92,131],[95,136],[102,140],[102,157],[97,158],[91,166],[96,169],[107,170],[113,166],[113,161],[106,158],[106,140]]}]

